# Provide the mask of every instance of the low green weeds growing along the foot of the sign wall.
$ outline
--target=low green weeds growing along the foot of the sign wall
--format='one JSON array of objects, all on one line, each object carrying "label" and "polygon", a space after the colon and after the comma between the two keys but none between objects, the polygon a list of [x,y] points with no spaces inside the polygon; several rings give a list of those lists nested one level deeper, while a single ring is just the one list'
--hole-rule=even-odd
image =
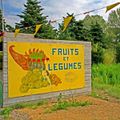
[{"label": "low green weeds growing along the foot of the sign wall", "polygon": [[[3,110],[1,110],[0,115],[4,116],[4,118],[9,118],[10,113],[15,109],[22,109],[22,108],[31,108],[36,109],[39,106],[48,104],[48,101],[40,101],[37,103],[23,103],[23,104],[16,104],[10,107],[6,107]],[[44,113],[51,113],[58,110],[66,110],[69,107],[84,107],[92,105],[89,101],[76,101],[72,99],[71,101],[65,101],[63,100],[62,94],[60,94],[57,98],[57,102],[55,104],[52,104],[52,106],[45,109]]]}]

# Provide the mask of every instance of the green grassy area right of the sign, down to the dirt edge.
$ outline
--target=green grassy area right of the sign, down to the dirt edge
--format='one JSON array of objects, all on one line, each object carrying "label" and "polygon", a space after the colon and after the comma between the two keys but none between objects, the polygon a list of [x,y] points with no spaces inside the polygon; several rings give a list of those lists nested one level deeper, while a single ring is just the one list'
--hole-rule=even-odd
[{"label": "green grassy area right of the sign, down to the dirt edge", "polygon": [[120,64],[93,65],[92,96],[100,97],[96,91],[102,90],[108,95],[120,99]]}]

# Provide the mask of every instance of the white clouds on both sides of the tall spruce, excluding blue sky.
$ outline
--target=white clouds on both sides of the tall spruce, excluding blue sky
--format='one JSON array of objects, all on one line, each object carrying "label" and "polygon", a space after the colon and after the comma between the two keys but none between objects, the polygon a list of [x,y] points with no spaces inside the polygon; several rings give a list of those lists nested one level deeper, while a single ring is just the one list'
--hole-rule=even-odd
[{"label": "white clouds on both sides of the tall spruce, excluding blue sky", "polygon": [[[26,0],[7,0],[12,7],[24,9],[23,4]],[[59,19],[66,16],[66,13],[79,14],[92,9],[101,8],[103,6],[118,2],[118,0],[41,0],[42,7],[44,8],[44,14],[48,15],[48,19]],[[117,7],[116,7],[117,8]],[[116,9],[115,8],[115,9]],[[105,13],[104,10],[97,11],[91,14],[99,14],[105,19],[108,18],[109,12]],[[76,17],[82,19],[84,16]],[[6,16],[7,22],[14,25],[15,22],[19,21],[19,17]]]}]

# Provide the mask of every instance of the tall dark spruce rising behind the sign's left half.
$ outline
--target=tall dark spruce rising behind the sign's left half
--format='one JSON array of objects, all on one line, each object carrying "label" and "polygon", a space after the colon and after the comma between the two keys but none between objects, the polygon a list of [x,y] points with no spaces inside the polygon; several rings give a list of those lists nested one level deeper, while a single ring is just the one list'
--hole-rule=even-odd
[{"label": "tall dark spruce rising behind the sign's left half", "polygon": [[[40,23],[47,23],[46,17],[43,16],[40,2],[37,0],[27,0],[27,3],[24,4],[25,10],[22,12],[22,15],[18,15],[22,20],[20,23],[17,23],[16,26],[22,28],[23,32],[33,33],[35,25]],[[25,29],[26,27],[31,27],[30,29]]]}]

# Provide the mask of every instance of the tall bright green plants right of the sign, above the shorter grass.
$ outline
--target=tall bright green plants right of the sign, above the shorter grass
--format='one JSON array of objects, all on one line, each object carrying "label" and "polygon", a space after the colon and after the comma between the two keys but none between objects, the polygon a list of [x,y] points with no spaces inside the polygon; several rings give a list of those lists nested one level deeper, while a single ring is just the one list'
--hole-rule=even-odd
[{"label": "tall bright green plants right of the sign, above the shorter grass", "polygon": [[120,64],[93,65],[92,80],[109,85],[120,85]]}]

